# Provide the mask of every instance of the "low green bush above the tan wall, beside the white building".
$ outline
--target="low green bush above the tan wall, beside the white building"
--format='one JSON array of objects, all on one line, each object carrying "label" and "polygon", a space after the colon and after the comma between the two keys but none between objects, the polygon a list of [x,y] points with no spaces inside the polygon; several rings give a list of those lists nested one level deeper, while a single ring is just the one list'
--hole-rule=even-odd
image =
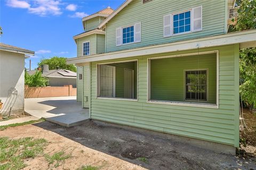
[{"label": "low green bush above the tan wall, beside the white building", "polygon": [[48,80],[42,77],[42,72],[40,71],[36,71],[33,75],[25,72],[25,84],[29,87],[44,87],[49,85]]}]

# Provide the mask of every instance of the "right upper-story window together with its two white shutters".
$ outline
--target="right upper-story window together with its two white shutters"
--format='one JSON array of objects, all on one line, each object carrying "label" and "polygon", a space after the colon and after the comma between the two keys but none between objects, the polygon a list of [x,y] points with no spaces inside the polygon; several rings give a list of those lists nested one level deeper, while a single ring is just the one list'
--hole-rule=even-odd
[{"label": "right upper-story window together with its two white shutters", "polygon": [[202,31],[202,6],[164,16],[164,37]]}]

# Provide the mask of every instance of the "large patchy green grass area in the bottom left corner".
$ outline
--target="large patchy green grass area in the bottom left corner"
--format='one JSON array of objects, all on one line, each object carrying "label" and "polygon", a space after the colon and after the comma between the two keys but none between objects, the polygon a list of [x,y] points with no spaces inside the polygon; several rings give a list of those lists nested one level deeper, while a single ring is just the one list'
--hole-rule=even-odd
[{"label": "large patchy green grass area in the bottom left corner", "polygon": [[26,167],[24,159],[41,155],[46,143],[45,139],[0,137],[0,170]]}]

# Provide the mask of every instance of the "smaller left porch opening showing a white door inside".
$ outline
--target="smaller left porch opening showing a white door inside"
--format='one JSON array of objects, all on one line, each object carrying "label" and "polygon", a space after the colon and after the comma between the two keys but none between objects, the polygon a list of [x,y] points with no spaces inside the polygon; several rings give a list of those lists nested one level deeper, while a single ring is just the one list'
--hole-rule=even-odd
[{"label": "smaller left porch opening showing a white door inside", "polygon": [[97,97],[137,99],[137,61],[98,64]]}]

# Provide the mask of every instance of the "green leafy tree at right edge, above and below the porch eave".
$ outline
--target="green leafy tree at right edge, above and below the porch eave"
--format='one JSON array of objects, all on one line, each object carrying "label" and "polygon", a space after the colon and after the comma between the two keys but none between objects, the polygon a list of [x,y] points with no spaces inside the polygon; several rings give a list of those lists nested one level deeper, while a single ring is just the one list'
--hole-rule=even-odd
[{"label": "green leafy tree at right edge, above and below the porch eave", "polygon": [[[256,28],[256,0],[238,0],[237,23],[233,31]],[[256,48],[240,50],[240,96],[244,103],[256,108]]]}]

